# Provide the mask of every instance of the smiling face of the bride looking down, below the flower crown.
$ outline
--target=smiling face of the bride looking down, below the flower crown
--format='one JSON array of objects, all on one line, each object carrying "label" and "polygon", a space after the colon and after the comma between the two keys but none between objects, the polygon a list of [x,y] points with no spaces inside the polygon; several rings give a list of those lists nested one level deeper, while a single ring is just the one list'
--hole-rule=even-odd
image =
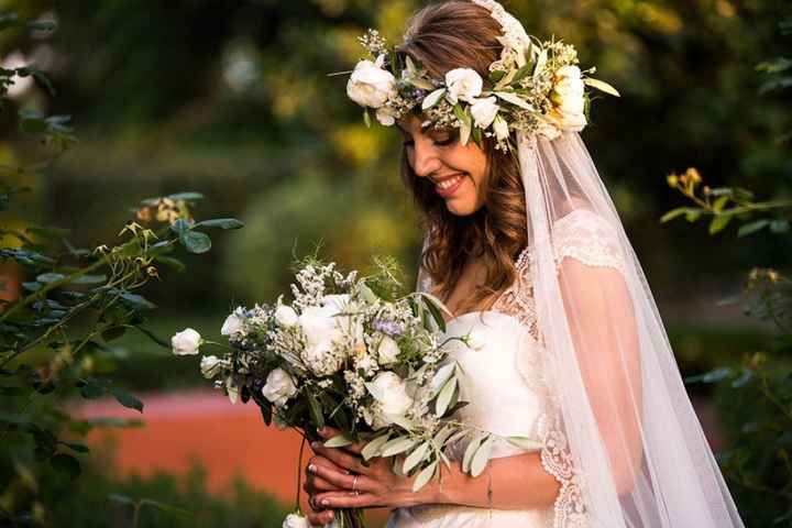
[{"label": "smiling face of the bride looking down, below the flower crown", "polygon": [[463,146],[458,130],[421,129],[420,119],[411,113],[397,124],[410,167],[435,184],[448,210],[461,217],[477,211],[484,204],[486,153],[472,140]]}]

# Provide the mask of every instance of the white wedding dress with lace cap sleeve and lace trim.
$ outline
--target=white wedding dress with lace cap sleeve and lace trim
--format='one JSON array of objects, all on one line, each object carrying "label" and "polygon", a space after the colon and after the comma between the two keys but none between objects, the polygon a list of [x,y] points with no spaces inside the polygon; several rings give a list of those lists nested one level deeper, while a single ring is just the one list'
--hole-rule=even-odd
[{"label": "white wedding dress with lace cap sleeve and lace trim", "polygon": [[[588,266],[624,270],[615,231],[594,212],[573,210],[556,222],[552,232],[557,262],[570,257]],[[517,279],[492,309],[457,317],[448,323],[447,334],[471,332],[473,341],[481,344],[476,350],[461,345],[453,351],[464,372],[460,399],[469,403],[457,416],[501,436],[539,441],[542,466],[561,485],[554,505],[526,510],[420,505],[394,510],[387,528],[593,527],[581,494],[582,477],[575,471],[561,427],[559,404],[543,375],[544,346],[537,326],[529,250],[524,250],[516,263]],[[419,288],[431,289],[426,276],[419,278]],[[453,451],[460,459],[464,446]],[[503,440],[494,444],[492,457],[520,452]]]}]

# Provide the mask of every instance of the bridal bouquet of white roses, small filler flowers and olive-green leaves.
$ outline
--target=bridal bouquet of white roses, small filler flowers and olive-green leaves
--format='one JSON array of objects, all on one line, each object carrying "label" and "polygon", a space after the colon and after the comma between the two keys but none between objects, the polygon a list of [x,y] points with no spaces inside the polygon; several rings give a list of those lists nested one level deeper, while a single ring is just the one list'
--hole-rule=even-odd
[{"label": "bridal bouquet of white roses, small filler flowers and olive-green leaves", "polygon": [[[334,263],[310,260],[298,266],[292,301],[237,308],[221,333],[228,352],[206,355],[200,369],[231,402],[255,402],[264,421],[294,427],[317,440],[326,424],[342,431],[324,442],[363,442],[362,455],[400,455],[395,471],[417,475],[414,491],[463,439],[463,468],[477,476],[490,459],[494,436],[454,420],[462,372],[453,345],[472,346],[470,336],[447,337],[435,297],[400,295],[389,261],[377,273],[343,275]],[[174,336],[177,354],[208,343],[195,330]],[[219,343],[215,343],[219,344]],[[525,439],[509,438],[521,444]],[[340,512],[339,526],[362,526],[359,510]]]}]

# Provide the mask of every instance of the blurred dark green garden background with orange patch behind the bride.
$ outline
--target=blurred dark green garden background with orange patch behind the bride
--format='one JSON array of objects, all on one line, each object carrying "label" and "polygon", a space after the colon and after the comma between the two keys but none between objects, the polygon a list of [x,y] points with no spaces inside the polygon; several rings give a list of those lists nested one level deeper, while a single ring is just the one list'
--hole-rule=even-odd
[{"label": "blurred dark green garden background with orange patch behind the bride", "polygon": [[[3,67],[34,63],[56,90],[53,96],[30,77],[11,87],[12,101],[0,113],[0,163],[22,163],[37,148],[18,132],[21,109],[72,116],[79,139],[44,172],[3,173],[9,184],[33,188],[3,220],[58,226],[75,244],[96,246],[116,239],[141,199],[182,190],[208,197],[201,216],[242,220],[244,229],[215,238],[210,253],[189,256],[186,272],[162,271],[167,287],[147,289],[160,307],[147,327],[166,339],[188,326],[218,339],[230,308],[285,292],[293,256],[318,242],[343,267],[364,266],[372,252],[384,252],[414,277],[421,233],[399,182],[398,133],[366,129],[345,97],[346,76],[327,74],[351,69],[366,28],[398,42],[422,4],[0,1],[2,11],[57,24],[54,32],[0,36]],[[779,25],[790,2],[504,4],[529,33],[573,44],[581,65],[596,65],[595,77],[622,94],[594,102],[583,139],[683,375],[737,361],[769,328],[718,301],[739,292],[752,266],[788,267],[789,240],[759,233],[737,245],[734,229],[705,237],[700,226],[659,219],[682,205],[666,176],[690,166],[713,187],[789,196],[792,160],[789,142],[779,140],[790,127],[789,92],[770,90],[756,66],[791,55]],[[25,279],[10,265],[3,273]],[[139,415],[102,400],[79,408],[142,422],[91,436],[102,454],[94,455],[99,462],[90,479],[73,490],[79,506],[66,502],[55,514],[68,519],[61,526],[128,526],[90,520],[117,488],[204,508],[210,513],[200,526],[279,526],[293,507],[297,437],[265,429],[252,404],[231,406],[200,376],[197,361],[174,358],[145,337],[114,344],[113,378],[146,409]],[[690,392],[711,443],[723,448],[728,431],[711,389]],[[376,514],[373,526],[385,515]],[[144,517],[140,526],[160,526],[155,516]]]}]

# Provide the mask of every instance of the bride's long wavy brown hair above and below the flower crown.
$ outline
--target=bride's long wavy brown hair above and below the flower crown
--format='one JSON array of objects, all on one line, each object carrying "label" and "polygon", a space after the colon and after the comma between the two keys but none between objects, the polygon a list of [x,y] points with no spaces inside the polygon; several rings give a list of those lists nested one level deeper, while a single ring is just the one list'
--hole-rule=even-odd
[{"label": "bride's long wavy brown hair above and below the flower crown", "polygon": [[[469,1],[451,0],[427,6],[410,19],[399,52],[417,59],[430,75],[443,78],[453,68],[473,68],[484,79],[490,64],[501,56],[501,24],[490,11]],[[487,309],[515,279],[515,258],[527,243],[525,191],[519,165],[510,153],[482,138],[487,156],[484,205],[470,216],[448,211],[428,178],[418,177],[402,152],[402,178],[411,190],[428,233],[421,265],[442,297],[448,297],[470,257],[482,258],[484,285],[459,309],[480,305]]]}]

